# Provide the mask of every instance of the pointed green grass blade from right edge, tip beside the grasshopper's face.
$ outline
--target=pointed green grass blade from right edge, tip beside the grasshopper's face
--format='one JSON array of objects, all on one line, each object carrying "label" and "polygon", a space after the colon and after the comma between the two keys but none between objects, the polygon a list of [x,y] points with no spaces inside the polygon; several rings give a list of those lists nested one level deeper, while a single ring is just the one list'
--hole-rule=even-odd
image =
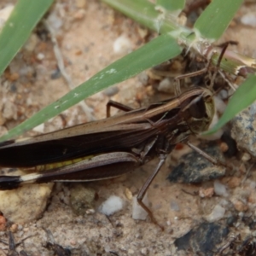
[{"label": "pointed green grass blade from right edge, tip beside the grasshopper's face", "polygon": [[232,119],[236,113],[241,112],[244,108],[247,108],[255,101],[256,96],[256,75],[251,75],[249,78],[239,86],[234,95],[230,98],[229,104],[224,111],[222,117],[218,120],[218,123],[204,134],[212,134],[223,125]]}]

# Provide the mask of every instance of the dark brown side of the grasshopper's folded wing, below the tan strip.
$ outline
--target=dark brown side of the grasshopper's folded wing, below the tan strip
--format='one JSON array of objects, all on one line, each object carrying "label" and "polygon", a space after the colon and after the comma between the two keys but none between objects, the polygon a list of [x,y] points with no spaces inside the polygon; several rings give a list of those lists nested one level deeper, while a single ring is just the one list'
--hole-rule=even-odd
[{"label": "dark brown side of the grasshopper's folded wing, below the tan strip", "polygon": [[[124,127],[125,126],[125,127]],[[127,151],[155,135],[152,125],[116,125],[111,131],[37,141],[13,142],[0,147],[0,166],[32,167],[86,155]]]}]

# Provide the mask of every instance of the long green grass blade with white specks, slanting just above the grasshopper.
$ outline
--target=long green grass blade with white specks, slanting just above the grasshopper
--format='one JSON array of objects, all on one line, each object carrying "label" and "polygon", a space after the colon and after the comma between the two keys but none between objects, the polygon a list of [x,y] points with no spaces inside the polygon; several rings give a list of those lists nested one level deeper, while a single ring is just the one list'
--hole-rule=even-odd
[{"label": "long green grass blade with white specks, slanting just above the grasshopper", "polygon": [[31,130],[33,127],[44,123],[46,120],[84,100],[84,98],[106,89],[112,84],[129,79],[147,68],[167,61],[179,55],[181,51],[182,48],[177,44],[176,39],[168,34],[163,34],[131,54],[125,55],[125,57],[113,62],[101,72],[96,73],[91,79],[80,84],[57,102],[50,104],[33,115],[32,118],[27,119],[10,130],[7,135],[0,138],[0,141],[19,136],[23,132]]}]

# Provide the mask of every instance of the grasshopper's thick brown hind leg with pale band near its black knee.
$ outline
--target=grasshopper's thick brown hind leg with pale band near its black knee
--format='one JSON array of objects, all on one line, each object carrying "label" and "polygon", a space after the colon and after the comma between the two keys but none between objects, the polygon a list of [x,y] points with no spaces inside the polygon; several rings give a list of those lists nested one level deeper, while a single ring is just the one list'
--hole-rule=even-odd
[{"label": "grasshopper's thick brown hind leg with pale band near its black knee", "polygon": [[141,164],[133,154],[114,152],[94,156],[70,166],[23,176],[0,176],[0,190],[17,189],[26,183],[93,181],[118,177]]}]

